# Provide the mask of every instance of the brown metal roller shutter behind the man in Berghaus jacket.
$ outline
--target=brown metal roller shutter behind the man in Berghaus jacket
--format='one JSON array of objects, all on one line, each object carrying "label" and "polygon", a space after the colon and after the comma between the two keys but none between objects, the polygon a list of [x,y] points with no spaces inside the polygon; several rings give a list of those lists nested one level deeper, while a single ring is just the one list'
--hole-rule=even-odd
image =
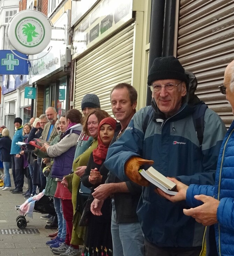
[{"label": "brown metal roller shutter behind the man in Berghaus jacket", "polygon": [[180,0],[176,56],[198,80],[196,94],[226,126],[233,115],[219,92],[224,70],[234,59],[234,1]]}]

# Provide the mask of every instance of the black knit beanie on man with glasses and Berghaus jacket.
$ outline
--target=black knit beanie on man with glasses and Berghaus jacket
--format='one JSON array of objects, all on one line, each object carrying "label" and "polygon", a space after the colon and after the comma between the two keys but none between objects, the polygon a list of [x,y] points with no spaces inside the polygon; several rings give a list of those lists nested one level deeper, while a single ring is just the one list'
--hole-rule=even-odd
[{"label": "black knit beanie on man with glasses and Berghaus jacket", "polygon": [[184,68],[174,56],[156,58],[149,69],[148,85],[151,85],[153,81],[162,79],[177,79],[188,82]]}]

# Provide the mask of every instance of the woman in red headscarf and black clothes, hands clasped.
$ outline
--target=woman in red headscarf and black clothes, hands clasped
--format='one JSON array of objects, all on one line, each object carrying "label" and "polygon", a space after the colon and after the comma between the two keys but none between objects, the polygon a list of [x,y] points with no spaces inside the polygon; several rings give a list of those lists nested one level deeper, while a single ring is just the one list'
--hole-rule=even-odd
[{"label": "woman in red headscarf and black clothes, hands clasped", "polygon": [[[105,183],[107,179],[109,171],[103,163],[114,136],[115,128],[116,120],[111,117],[104,118],[98,126],[98,146],[90,155],[85,174],[81,178],[84,186],[92,187],[91,194],[96,187]],[[110,198],[107,198],[103,203],[102,216],[90,214],[83,255],[88,255],[88,253],[90,256],[112,255],[110,207]]]}]

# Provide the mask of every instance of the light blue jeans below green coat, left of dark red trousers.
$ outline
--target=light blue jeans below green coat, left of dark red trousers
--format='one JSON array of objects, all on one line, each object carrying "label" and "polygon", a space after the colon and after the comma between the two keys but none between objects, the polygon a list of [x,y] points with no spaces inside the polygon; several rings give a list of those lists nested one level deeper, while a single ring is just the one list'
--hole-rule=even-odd
[{"label": "light blue jeans below green coat, left of dark red trousers", "polygon": [[62,202],[60,198],[54,197],[54,208],[58,216],[58,237],[65,240],[67,234],[66,220],[63,215]]}]

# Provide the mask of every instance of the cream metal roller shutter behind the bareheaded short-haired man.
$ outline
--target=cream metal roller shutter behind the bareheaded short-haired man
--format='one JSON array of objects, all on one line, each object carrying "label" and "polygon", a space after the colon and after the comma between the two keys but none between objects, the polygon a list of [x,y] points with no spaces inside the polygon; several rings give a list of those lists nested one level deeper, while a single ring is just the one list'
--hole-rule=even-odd
[{"label": "cream metal roller shutter behind the bareheaded short-haired man", "polygon": [[110,91],[120,82],[131,83],[134,26],[128,26],[76,60],[75,108],[87,93],[96,94],[101,108],[112,114]]}]

